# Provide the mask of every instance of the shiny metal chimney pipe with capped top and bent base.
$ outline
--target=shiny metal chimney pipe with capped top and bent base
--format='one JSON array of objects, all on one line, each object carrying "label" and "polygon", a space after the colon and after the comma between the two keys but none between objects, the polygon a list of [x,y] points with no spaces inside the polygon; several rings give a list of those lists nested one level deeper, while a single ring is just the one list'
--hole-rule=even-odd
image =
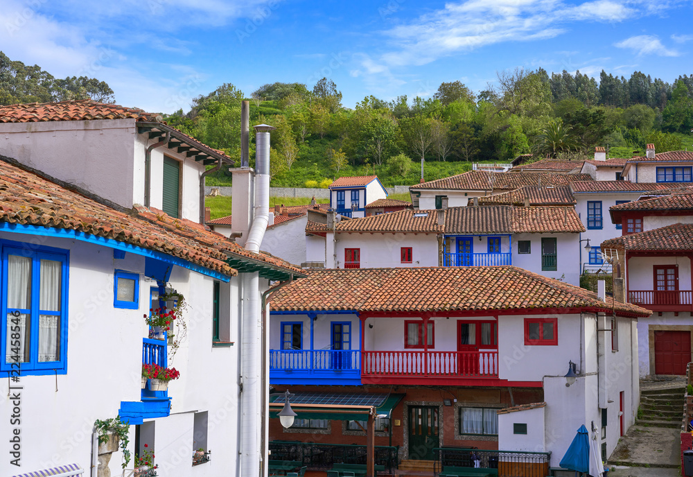
[{"label": "shiny metal chimney pipe with capped top and bent base", "polygon": [[270,220],[270,131],[276,129],[267,124],[255,128],[255,214],[253,225],[248,232],[245,250],[260,252]]}]

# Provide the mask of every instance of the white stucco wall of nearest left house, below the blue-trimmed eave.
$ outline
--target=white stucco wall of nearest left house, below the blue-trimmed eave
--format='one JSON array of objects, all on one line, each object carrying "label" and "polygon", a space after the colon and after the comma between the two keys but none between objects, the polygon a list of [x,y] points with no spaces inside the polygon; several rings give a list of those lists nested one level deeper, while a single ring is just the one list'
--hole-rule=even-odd
[{"label": "white stucco wall of nearest left house, below the blue-trimmed eave", "polygon": [[[9,467],[0,461],[0,475],[13,475],[76,462],[87,475],[91,465],[91,428],[95,419],[115,417],[121,401],[141,399],[142,338],[148,333],[143,313],[149,313],[150,287],[155,283],[143,276],[143,257],[128,253],[114,259],[112,249],[73,241],[0,232],[0,238],[37,243],[69,250],[69,332],[67,374],[22,376],[21,398],[22,467]],[[114,269],[139,273],[139,309],[116,309]],[[221,319],[231,324],[230,340],[237,341],[238,286],[222,283]],[[209,449],[236,449],[238,428],[238,385],[236,379],[220,379],[210,389],[209,373],[223,369],[238,376],[237,347],[211,347],[211,309],[213,279],[175,267],[170,284],[186,297],[187,338],[169,367],[180,372],[180,379],[168,388],[170,417],[155,422],[156,462],[159,473],[176,476],[212,476],[219,468],[236,469],[237,451],[213,454],[213,462],[191,467],[193,451],[193,413],[209,413]],[[234,298],[235,297],[235,298]],[[232,318],[233,317],[233,318]],[[0,394],[0,415],[9,422],[12,406],[6,393]],[[146,422],[152,419],[147,419]],[[130,428],[130,451],[134,458],[134,426]],[[8,439],[0,451],[8,456]],[[129,469],[133,468],[134,461]],[[121,453],[109,463],[112,475],[120,475]]]}]

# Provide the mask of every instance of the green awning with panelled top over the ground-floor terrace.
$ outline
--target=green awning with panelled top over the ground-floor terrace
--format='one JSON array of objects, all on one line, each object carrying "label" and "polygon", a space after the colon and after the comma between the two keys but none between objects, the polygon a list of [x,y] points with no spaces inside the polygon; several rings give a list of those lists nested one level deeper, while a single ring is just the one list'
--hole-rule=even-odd
[{"label": "green awning with panelled top over the ground-floor terrace", "polygon": [[[291,408],[297,419],[329,419],[339,421],[366,421],[369,409],[376,408],[376,415],[390,417],[392,409],[397,406],[404,394],[387,394],[376,392],[332,393],[332,392],[297,392],[290,398]],[[270,417],[277,417],[283,404],[283,394],[270,397]]]}]

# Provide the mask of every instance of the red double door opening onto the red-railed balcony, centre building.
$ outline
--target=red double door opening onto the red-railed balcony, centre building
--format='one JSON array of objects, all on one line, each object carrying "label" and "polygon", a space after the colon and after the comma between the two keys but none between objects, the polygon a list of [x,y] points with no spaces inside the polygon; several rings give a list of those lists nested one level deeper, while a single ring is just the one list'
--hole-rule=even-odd
[{"label": "red double door opening onto the red-railed balcony, centre building", "polygon": [[460,375],[480,376],[495,372],[497,350],[498,326],[495,321],[457,322],[457,372]]}]

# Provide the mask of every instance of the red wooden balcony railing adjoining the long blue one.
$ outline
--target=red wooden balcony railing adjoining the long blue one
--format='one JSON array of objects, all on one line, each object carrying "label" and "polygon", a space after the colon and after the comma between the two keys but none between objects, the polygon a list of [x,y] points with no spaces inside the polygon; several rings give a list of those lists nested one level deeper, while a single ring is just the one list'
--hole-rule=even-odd
[{"label": "red wooden balcony railing adjoining the long blue one", "polygon": [[362,383],[465,383],[498,379],[498,352],[365,351]]}]

